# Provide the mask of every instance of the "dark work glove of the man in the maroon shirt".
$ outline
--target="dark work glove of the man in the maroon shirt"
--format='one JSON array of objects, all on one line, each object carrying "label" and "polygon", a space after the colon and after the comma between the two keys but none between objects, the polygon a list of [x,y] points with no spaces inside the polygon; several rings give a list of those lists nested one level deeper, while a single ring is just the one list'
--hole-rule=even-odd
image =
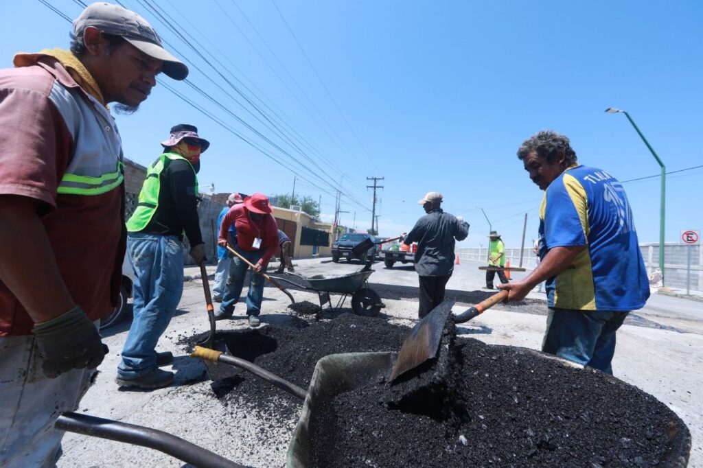
[{"label": "dark work glove of the man in the maroon shirt", "polygon": [[95,369],[109,351],[100,341],[95,324],[79,306],[46,322],[35,323],[32,332],[44,360],[41,370],[50,379],[72,369]]}]

